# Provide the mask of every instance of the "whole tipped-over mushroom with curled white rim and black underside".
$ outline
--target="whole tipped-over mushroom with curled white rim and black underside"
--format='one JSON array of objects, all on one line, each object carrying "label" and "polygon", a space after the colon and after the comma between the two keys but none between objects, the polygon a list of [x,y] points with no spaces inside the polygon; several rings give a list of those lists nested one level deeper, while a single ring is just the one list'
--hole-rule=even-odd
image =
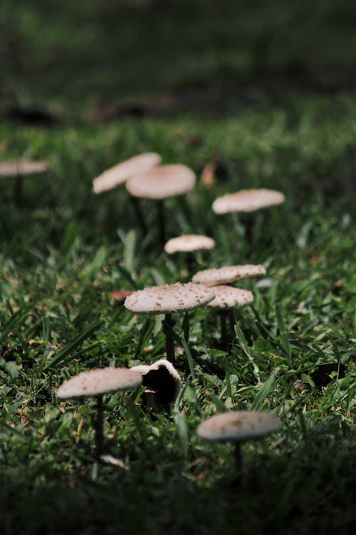
[{"label": "whole tipped-over mushroom with curled white rim and black underside", "polygon": [[159,359],[151,365],[137,365],[131,370],[142,375],[151,408],[155,408],[155,402],[172,407],[182,388],[182,380],[171,362]]}]

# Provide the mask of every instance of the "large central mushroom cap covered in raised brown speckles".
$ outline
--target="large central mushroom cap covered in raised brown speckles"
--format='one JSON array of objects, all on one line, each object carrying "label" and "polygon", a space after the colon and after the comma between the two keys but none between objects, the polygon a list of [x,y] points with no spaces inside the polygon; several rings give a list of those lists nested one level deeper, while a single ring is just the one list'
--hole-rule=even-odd
[{"label": "large central mushroom cap covered in raised brown speckles", "polygon": [[171,314],[204,307],[213,299],[214,292],[208,287],[192,282],[177,282],[133,292],[126,297],[125,307],[136,314]]}]

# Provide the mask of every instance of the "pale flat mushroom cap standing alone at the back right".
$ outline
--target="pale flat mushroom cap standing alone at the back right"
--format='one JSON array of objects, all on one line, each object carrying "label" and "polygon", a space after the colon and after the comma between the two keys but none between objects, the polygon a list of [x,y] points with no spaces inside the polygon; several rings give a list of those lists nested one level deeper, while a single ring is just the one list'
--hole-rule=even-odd
[{"label": "pale flat mushroom cap standing alone at the back right", "polygon": [[260,208],[267,208],[283,203],[285,197],[279,191],[259,189],[241,190],[237,193],[223,195],[214,200],[215,213],[254,212]]}]

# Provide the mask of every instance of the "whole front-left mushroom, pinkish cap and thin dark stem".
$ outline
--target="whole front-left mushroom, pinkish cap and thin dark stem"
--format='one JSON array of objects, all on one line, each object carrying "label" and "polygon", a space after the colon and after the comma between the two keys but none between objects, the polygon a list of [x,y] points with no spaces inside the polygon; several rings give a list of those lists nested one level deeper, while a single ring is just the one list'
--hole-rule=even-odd
[{"label": "whole front-left mushroom, pinkish cap and thin dark stem", "polygon": [[93,396],[97,400],[97,417],[95,420],[95,460],[100,460],[103,452],[103,394],[137,387],[142,382],[142,377],[137,372],[127,368],[98,368],[88,370],[75,375],[64,381],[57,390],[57,397],[70,399],[77,397]]}]

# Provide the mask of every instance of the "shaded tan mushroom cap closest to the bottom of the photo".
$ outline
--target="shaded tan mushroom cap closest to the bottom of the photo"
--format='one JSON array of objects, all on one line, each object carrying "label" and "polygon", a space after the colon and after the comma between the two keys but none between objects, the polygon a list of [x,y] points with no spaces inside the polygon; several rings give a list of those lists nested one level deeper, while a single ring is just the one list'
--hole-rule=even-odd
[{"label": "shaded tan mushroom cap closest to the bottom of the photo", "polygon": [[266,437],[281,426],[281,419],[271,412],[223,412],[202,422],[197,434],[201,439],[240,442]]}]

